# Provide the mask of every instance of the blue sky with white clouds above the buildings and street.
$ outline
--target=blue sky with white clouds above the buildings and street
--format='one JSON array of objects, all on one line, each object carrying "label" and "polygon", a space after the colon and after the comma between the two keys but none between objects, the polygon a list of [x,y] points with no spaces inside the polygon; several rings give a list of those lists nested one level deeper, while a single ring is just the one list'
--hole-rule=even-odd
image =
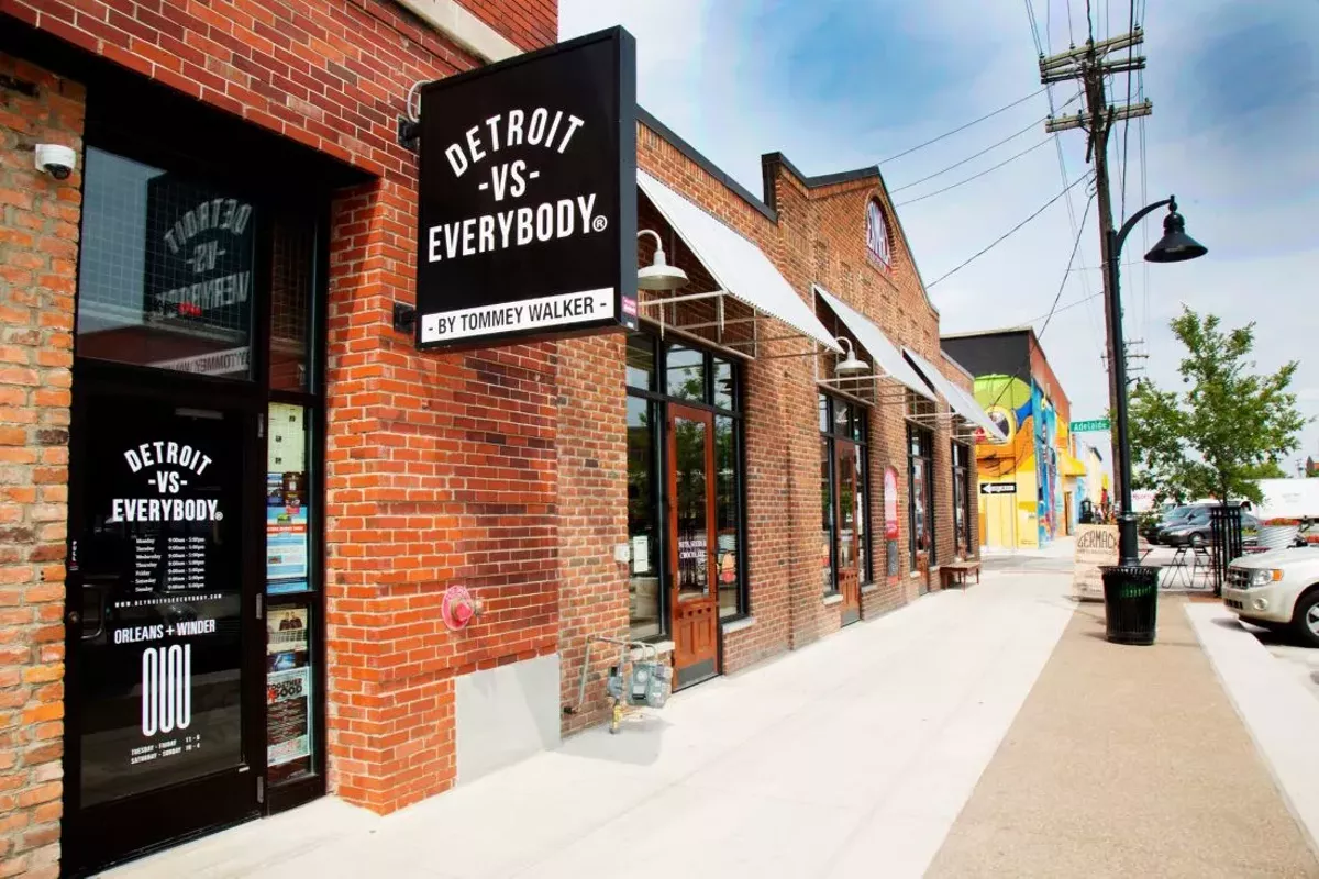
[{"label": "blue sky with white clouds above the buildings and street", "polygon": [[[1138,0],[1138,9],[1148,0]],[[1031,0],[1046,51],[1068,43],[1064,0]],[[1130,7],[1092,0],[1096,36],[1126,29]],[[1257,322],[1260,369],[1299,360],[1295,390],[1319,416],[1319,3],[1159,0],[1144,14],[1145,94],[1154,115],[1130,127],[1126,212],[1175,192],[1187,231],[1210,248],[1195,262],[1149,266],[1158,216],[1124,252],[1133,361],[1165,387],[1179,383],[1181,347],[1167,322],[1186,302],[1227,324]],[[1084,0],[1071,0],[1086,33]],[[623,24],[637,38],[638,98],[753,192],[761,153],[781,150],[807,174],[881,162],[1039,88],[1025,4],[966,0],[561,0],[561,36]],[[1136,86],[1133,86],[1136,88]],[[1111,90],[1125,100],[1125,76]],[[1055,104],[1072,98],[1054,87]],[[1075,108],[1075,105],[1074,105]],[[884,162],[890,190],[989,146],[1049,112],[1043,95],[910,156]],[[1068,111],[1071,112],[1071,111]],[[1111,153],[1120,181],[1121,129]],[[1026,132],[987,156],[894,196],[926,283],[1020,223],[1063,187],[1053,144],[947,194],[902,202],[984,170],[1045,138]],[[1088,170],[1079,130],[1059,137],[1068,179]],[[1141,156],[1144,154],[1144,162]],[[1115,186],[1113,210],[1122,199]],[[1074,418],[1107,406],[1099,232],[1091,216],[1076,266],[1064,275],[1074,220],[1088,194],[1072,190],[1016,236],[930,295],[944,332],[1031,322],[1037,332],[1066,277],[1042,345]],[[1146,235],[1149,236],[1146,239]],[[1079,303],[1079,304],[1078,304]],[[1070,307],[1068,307],[1070,306]],[[1311,353],[1311,351],[1315,353]],[[1104,439],[1103,436],[1093,438]],[[1319,459],[1319,424],[1286,461]],[[1108,456],[1105,455],[1105,459]]]}]

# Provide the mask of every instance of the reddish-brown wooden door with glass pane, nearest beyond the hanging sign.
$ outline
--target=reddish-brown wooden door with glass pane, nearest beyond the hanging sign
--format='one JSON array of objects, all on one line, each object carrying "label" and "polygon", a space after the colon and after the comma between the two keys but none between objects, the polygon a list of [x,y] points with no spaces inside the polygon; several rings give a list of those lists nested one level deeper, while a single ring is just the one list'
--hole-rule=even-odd
[{"label": "reddish-brown wooden door with glass pane, nearest beyond the hanging sign", "polygon": [[675,685],[719,672],[714,415],[669,405],[669,608]]}]

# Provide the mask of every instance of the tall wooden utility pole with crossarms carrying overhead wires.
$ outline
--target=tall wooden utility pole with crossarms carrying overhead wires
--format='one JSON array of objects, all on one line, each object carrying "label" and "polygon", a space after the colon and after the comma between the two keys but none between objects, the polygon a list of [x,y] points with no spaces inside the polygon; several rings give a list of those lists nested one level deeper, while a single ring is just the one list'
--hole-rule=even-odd
[{"label": "tall wooden utility pole with crossarms carrying overhead wires", "polygon": [[[1109,264],[1109,242],[1115,228],[1113,204],[1108,192],[1108,134],[1112,132],[1115,123],[1136,119],[1138,116],[1149,116],[1153,112],[1153,104],[1149,100],[1140,104],[1124,104],[1122,107],[1111,105],[1107,95],[1104,94],[1104,78],[1112,74],[1130,74],[1137,70],[1144,70],[1144,55],[1137,57],[1129,53],[1128,58],[1119,58],[1113,61],[1109,61],[1108,58],[1109,54],[1115,51],[1121,51],[1124,49],[1134,50],[1134,47],[1141,45],[1144,41],[1145,32],[1141,28],[1137,28],[1132,33],[1112,37],[1109,40],[1101,40],[1100,42],[1087,40],[1086,45],[1080,49],[1072,46],[1067,51],[1057,55],[1050,55],[1047,58],[1043,55],[1039,57],[1039,80],[1043,84],[1049,86],[1067,80],[1079,80],[1086,94],[1086,109],[1083,112],[1057,119],[1050,116],[1049,120],[1045,121],[1045,130],[1054,134],[1071,128],[1080,128],[1089,134],[1088,142],[1086,144],[1086,161],[1089,162],[1093,159],[1095,162],[1095,196],[1099,200],[1100,257],[1104,266]],[[1115,361],[1117,352],[1121,351],[1121,356],[1124,358],[1122,365],[1125,365],[1126,351],[1125,345],[1120,341],[1122,333],[1122,328],[1120,326],[1121,316],[1115,320],[1112,299],[1113,279],[1105,270],[1104,324],[1108,337],[1108,409],[1111,412],[1116,412],[1119,381],[1122,381],[1119,378],[1119,374],[1125,373],[1125,369],[1119,369]],[[1115,323],[1119,326],[1115,326]],[[1116,460],[1117,447],[1120,444],[1116,430],[1117,424],[1115,422],[1109,436],[1115,455],[1113,460]],[[1115,497],[1122,497],[1120,478],[1121,477],[1115,469]]]}]

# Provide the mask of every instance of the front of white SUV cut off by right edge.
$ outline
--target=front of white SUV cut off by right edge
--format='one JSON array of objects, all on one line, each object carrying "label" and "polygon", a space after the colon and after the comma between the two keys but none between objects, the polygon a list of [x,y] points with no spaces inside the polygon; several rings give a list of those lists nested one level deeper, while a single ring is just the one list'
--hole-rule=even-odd
[{"label": "front of white SUV cut off by right edge", "polygon": [[1228,567],[1223,604],[1242,622],[1265,629],[1291,627],[1319,647],[1319,548],[1273,550],[1237,559]]}]

